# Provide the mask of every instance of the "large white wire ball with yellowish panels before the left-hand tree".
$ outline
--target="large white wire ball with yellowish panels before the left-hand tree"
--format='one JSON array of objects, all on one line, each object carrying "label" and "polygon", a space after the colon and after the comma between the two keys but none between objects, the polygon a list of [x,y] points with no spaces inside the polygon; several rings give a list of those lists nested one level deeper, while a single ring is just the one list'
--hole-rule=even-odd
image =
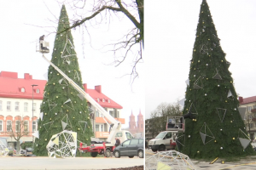
[{"label": "large white wire ball with yellowish panels before the left-hand tree", "polygon": [[76,156],[77,133],[64,130],[54,134],[46,145],[49,157],[72,158]]}]

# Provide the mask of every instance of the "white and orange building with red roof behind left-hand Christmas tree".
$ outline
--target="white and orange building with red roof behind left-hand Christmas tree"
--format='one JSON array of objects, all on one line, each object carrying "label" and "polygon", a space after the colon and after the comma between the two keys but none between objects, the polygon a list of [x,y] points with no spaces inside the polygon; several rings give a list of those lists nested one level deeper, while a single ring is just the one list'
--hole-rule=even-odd
[{"label": "white and orange building with red roof behind left-hand Christmas tree", "polygon": [[[47,81],[32,79],[32,75],[25,73],[24,78],[18,78],[17,72],[0,72],[0,137],[9,137],[11,127],[20,119],[26,122],[28,135],[21,138],[22,141],[32,141],[32,132],[37,129],[37,119],[40,113],[40,105],[44,99],[44,86]],[[32,84],[33,87],[33,118],[32,118]],[[95,99],[106,111],[122,124],[125,119],[120,118],[120,112],[123,107],[105,94],[102,94],[102,86],[96,86],[95,89],[88,89],[84,84],[84,91]],[[94,108],[88,104],[93,110]],[[94,125],[96,138],[102,140],[108,138],[108,123],[96,111],[94,119],[91,119]],[[108,120],[107,120],[108,121]],[[9,142],[15,142],[15,139],[8,138]]]}]

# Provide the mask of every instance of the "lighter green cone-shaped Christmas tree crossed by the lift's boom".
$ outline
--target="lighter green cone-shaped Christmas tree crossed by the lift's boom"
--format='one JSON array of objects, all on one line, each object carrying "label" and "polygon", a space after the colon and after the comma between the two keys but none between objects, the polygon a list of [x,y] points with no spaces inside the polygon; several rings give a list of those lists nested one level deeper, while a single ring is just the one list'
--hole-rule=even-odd
[{"label": "lighter green cone-shaped Christmas tree crossed by the lift's boom", "polygon": [[[63,5],[58,32],[67,26],[69,26],[69,21]],[[51,62],[84,89],[71,31],[56,35]],[[90,137],[93,133],[87,103],[86,99],[80,99],[78,94],[77,90],[49,65],[48,82],[44,88],[44,100],[41,105],[41,112],[44,116],[43,120],[39,119],[38,122],[39,139],[35,141],[34,154],[47,156],[46,145],[49,139],[55,133],[61,133],[63,127],[65,130],[77,132],[79,141],[90,144]],[[85,131],[84,122],[87,122]]]}]

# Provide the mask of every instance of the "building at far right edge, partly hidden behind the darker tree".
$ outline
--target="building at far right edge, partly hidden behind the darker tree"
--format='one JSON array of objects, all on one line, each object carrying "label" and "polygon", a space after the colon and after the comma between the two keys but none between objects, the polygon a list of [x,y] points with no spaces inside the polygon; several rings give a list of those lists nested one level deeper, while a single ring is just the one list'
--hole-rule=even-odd
[{"label": "building at far right edge, partly hidden behind the darker tree", "polygon": [[241,107],[246,107],[244,121],[247,127],[247,132],[250,133],[252,139],[256,139],[256,96],[249,98],[239,97]]}]

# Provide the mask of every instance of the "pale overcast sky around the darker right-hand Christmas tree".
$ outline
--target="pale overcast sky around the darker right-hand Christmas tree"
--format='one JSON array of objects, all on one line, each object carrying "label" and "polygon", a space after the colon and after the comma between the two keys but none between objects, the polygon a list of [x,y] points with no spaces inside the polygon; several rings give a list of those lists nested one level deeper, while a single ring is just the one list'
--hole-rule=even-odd
[{"label": "pale overcast sky around the darker right-hand Christmas tree", "polygon": [[[162,102],[183,99],[202,0],[145,3],[146,118]],[[256,95],[256,1],[207,0],[236,93]]]}]

